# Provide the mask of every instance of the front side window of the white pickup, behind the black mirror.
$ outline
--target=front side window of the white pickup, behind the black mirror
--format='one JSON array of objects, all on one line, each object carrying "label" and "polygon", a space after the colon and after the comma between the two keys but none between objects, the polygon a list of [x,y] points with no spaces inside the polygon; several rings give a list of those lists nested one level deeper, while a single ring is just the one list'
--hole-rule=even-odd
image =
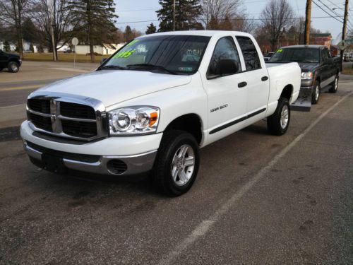
[{"label": "front side window of the white pickup, behind the black mirror", "polygon": [[238,73],[241,72],[238,50],[232,37],[222,37],[218,40],[215,50],[213,51],[210,66],[208,66],[208,75],[215,75],[219,73],[218,71],[220,69],[217,69],[217,64],[222,59],[232,59],[237,61],[239,66]]}]

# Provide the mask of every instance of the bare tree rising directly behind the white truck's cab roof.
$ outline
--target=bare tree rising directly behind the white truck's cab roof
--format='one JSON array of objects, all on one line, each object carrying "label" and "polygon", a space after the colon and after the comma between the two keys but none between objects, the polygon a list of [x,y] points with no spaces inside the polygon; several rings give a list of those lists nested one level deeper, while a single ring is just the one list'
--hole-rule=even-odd
[{"label": "bare tree rising directly behind the white truck's cab roof", "polygon": [[206,30],[220,29],[224,21],[232,21],[238,13],[241,0],[203,0],[201,22]]}]

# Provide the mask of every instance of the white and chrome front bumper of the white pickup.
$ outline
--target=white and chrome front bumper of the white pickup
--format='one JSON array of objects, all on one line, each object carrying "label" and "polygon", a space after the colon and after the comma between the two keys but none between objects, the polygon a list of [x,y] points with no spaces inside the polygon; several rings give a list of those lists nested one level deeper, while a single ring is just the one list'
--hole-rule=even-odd
[{"label": "white and chrome front bumper of the white pickup", "polygon": [[155,162],[162,139],[162,134],[109,137],[78,145],[48,141],[33,136],[33,132],[28,122],[23,122],[21,136],[25,151],[32,162],[36,162],[35,165],[49,169],[43,155],[52,155],[62,161],[65,168],[102,175],[136,175],[148,172]]}]

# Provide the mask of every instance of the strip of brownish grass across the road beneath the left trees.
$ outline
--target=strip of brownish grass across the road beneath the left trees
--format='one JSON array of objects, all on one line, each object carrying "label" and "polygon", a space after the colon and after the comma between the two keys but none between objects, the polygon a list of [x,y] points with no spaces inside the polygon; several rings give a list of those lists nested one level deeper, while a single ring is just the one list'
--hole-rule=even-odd
[{"label": "strip of brownish grass across the road beneath the left trees", "polygon": [[[73,61],[74,54],[58,54],[58,61]],[[102,58],[107,58],[109,55],[96,55],[95,61],[100,62]],[[25,61],[53,61],[53,54],[50,53],[25,53],[23,54]],[[76,62],[78,63],[90,63],[90,55],[76,54]]]}]

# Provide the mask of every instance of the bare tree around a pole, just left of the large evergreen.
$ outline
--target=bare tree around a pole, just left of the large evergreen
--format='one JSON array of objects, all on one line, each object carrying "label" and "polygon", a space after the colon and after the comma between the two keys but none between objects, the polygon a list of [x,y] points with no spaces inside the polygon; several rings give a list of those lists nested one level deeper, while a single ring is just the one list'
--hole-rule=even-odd
[{"label": "bare tree around a pole, just left of the large evergreen", "polygon": [[[56,47],[53,53],[56,53],[57,58],[57,50],[71,38],[69,34],[71,27],[69,23],[70,9],[68,8],[68,0],[52,0],[50,2],[48,3],[48,0],[36,0],[33,4],[32,14],[37,28],[42,33],[42,40],[48,47],[53,47],[51,16],[53,17],[54,47]],[[59,46],[59,42],[61,46]]]}]

